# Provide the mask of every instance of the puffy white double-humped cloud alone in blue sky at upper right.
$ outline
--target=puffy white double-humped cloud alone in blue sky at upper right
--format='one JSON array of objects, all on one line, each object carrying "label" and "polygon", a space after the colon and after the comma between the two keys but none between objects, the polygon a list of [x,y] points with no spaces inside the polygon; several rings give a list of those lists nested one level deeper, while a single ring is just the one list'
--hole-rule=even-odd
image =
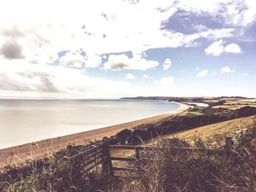
[{"label": "puffy white double-humped cloud alone in blue sky at upper right", "polygon": [[225,42],[222,39],[219,41],[213,42],[209,47],[205,49],[206,55],[219,56],[222,53],[242,53],[241,47],[235,43],[231,43],[224,47]]}]

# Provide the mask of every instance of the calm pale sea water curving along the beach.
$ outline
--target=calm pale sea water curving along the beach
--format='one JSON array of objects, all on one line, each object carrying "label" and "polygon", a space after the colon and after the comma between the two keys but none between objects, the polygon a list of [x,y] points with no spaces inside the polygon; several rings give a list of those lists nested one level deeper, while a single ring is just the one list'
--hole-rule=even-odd
[{"label": "calm pale sea water curving along the beach", "polygon": [[0,99],[0,149],[148,118],[178,107],[149,100]]}]

